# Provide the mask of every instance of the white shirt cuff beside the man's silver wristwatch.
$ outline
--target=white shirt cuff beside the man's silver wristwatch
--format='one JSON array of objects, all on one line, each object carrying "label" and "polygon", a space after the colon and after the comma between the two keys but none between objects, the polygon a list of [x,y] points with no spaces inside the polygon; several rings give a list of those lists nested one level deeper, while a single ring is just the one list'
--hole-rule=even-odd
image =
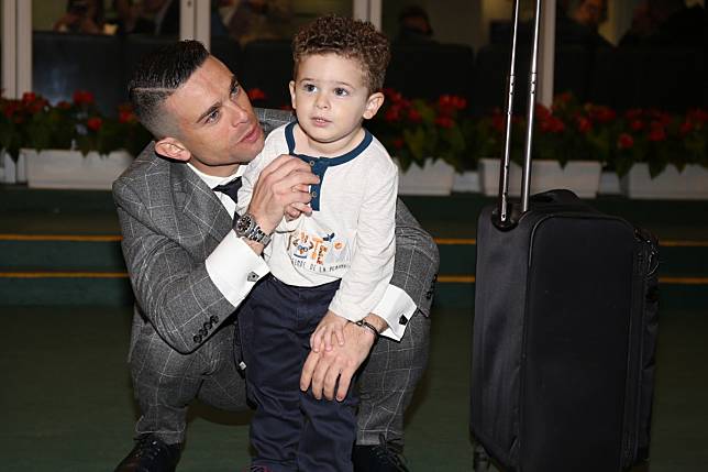
[{"label": "white shirt cuff beside the man's silver wristwatch", "polygon": [[219,243],[206,261],[207,273],[219,292],[237,307],[256,282],[269,270],[263,257],[233,231]]}]

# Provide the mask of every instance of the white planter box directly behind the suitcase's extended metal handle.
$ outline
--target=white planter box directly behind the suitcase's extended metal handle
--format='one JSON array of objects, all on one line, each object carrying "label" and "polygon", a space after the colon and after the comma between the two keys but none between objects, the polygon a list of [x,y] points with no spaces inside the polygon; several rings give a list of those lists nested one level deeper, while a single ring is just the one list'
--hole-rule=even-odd
[{"label": "white planter box directly behind the suitcase's extended metal handle", "polygon": [[[487,196],[499,193],[499,160],[479,160],[482,191]],[[597,197],[602,165],[596,161],[571,161],[561,167],[556,161],[533,161],[531,167],[531,194],[566,188],[580,198]],[[521,167],[511,163],[509,168],[509,195],[521,194]]]}]

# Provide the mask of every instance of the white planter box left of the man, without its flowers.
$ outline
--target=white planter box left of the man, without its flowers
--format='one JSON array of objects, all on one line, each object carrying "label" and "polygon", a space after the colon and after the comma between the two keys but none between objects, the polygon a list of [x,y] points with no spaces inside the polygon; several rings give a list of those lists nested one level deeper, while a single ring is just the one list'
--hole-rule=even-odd
[{"label": "white planter box left of the man, without its flowers", "polygon": [[133,162],[124,151],[109,155],[78,151],[22,150],[27,158],[27,186],[30,188],[74,188],[110,190],[115,180]]}]

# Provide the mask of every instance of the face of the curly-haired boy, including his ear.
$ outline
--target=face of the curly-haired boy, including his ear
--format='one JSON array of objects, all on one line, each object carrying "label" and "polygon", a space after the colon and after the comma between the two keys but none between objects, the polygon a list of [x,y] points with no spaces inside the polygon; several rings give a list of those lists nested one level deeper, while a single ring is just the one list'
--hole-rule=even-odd
[{"label": "face of the curly-haired boy, including his ear", "polygon": [[369,95],[358,61],[336,54],[303,57],[290,97],[300,128],[332,150],[346,146],[384,102],[380,92]]}]

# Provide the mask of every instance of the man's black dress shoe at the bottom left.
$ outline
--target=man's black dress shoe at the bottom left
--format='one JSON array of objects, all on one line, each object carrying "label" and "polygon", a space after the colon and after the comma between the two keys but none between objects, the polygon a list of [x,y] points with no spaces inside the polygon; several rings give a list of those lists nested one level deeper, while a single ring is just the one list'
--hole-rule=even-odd
[{"label": "man's black dress shoe at the bottom left", "polygon": [[141,435],[115,472],[175,472],[180,452],[181,444],[166,444],[153,433]]}]

